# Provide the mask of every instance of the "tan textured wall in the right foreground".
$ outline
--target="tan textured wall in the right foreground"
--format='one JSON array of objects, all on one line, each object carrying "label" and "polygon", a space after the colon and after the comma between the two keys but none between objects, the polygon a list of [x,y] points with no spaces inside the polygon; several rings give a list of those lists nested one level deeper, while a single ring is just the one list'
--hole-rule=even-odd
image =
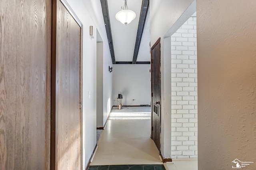
[{"label": "tan textured wall in the right foreground", "polygon": [[198,170],[256,169],[255,6],[197,0]]}]

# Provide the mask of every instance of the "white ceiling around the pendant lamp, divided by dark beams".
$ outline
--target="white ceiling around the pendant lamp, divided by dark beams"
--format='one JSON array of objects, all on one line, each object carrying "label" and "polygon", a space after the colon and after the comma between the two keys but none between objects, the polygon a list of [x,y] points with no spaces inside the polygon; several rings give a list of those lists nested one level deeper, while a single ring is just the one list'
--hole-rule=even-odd
[{"label": "white ceiling around the pendant lamp, divided by dark beams", "polygon": [[[116,62],[131,62],[134,54],[142,0],[128,0],[127,5],[129,10],[133,10],[136,13],[136,18],[130,24],[124,25],[116,20],[116,13],[121,10],[121,6],[124,6],[124,0],[108,0],[108,12]],[[137,61],[150,61],[149,17],[147,17],[147,20]]]}]

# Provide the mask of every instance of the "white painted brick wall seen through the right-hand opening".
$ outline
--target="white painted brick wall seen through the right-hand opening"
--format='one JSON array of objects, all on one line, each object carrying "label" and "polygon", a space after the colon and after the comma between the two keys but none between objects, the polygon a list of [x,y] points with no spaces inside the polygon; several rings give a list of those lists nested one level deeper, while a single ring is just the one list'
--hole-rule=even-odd
[{"label": "white painted brick wall seen through the right-hand opening", "polygon": [[171,39],[172,158],[197,158],[196,17],[190,17]]}]

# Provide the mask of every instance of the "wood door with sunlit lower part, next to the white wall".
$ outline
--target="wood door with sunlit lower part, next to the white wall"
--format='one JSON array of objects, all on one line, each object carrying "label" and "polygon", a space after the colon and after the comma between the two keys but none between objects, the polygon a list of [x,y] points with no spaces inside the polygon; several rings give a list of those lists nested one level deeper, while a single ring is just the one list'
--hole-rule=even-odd
[{"label": "wood door with sunlit lower part, next to the white wall", "polygon": [[56,170],[81,170],[81,28],[60,0],[56,1],[55,9],[56,50],[53,50],[56,51],[56,68],[52,70],[56,73],[53,73],[55,85],[52,87],[55,87],[56,134],[55,153],[52,153],[55,162],[51,162],[51,166]]}]

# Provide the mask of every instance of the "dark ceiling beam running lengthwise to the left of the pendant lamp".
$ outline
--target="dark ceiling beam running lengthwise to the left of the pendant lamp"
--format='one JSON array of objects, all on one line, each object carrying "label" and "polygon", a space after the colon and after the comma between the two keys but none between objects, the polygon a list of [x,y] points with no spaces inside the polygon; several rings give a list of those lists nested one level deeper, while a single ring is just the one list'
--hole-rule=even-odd
[{"label": "dark ceiling beam running lengthwise to the left of the pendant lamp", "polygon": [[116,64],[116,58],[114,53],[114,46],[113,46],[113,40],[112,40],[112,33],[111,33],[111,26],[110,26],[110,19],[109,19],[109,12],[108,12],[108,1],[107,0],[100,0],[101,8],[102,8],[102,14],[105,22],[107,37],[108,37],[108,45],[109,50],[112,58],[112,64]]}]

